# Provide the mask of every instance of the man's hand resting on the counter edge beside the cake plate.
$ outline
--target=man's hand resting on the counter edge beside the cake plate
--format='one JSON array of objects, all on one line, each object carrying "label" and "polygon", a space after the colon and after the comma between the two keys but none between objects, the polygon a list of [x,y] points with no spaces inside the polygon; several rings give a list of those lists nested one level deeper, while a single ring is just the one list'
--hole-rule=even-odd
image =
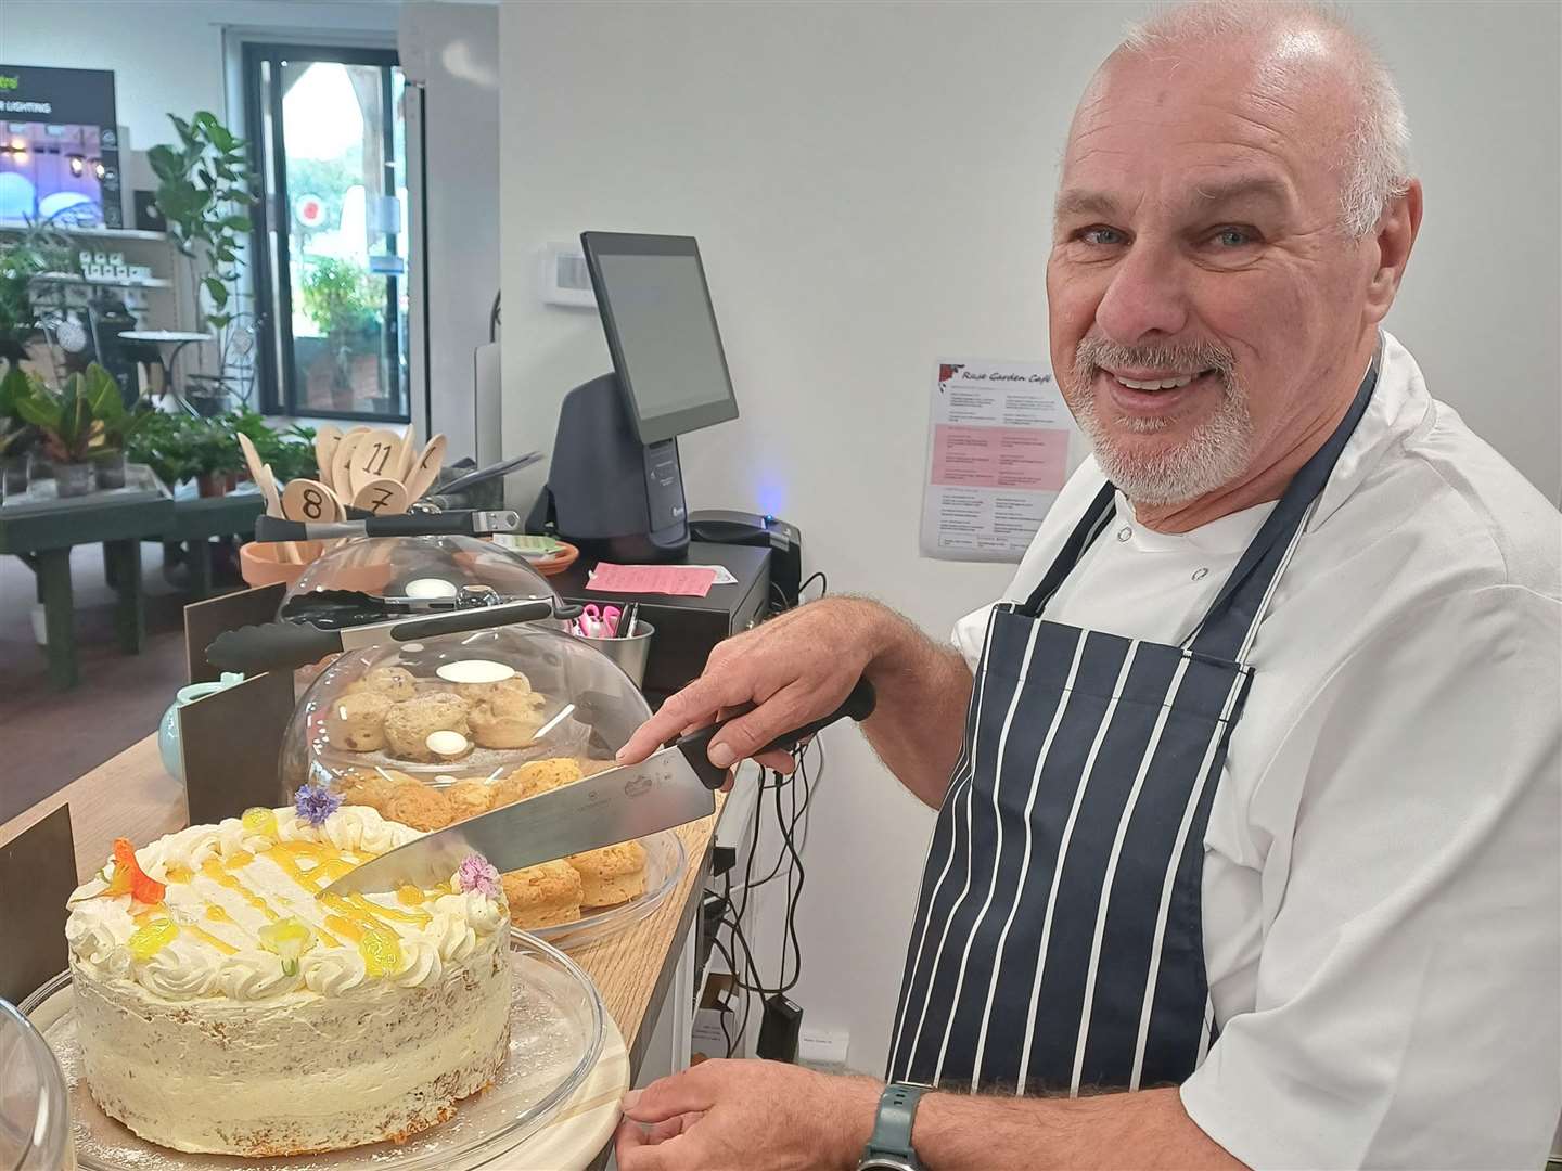
[{"label": "man's hand resting on the counter edge beside the cake plate", "polygon": [[625,1096],[619,1168],[854,1168],[881,1088],[781,1062],[704,1062]]}]

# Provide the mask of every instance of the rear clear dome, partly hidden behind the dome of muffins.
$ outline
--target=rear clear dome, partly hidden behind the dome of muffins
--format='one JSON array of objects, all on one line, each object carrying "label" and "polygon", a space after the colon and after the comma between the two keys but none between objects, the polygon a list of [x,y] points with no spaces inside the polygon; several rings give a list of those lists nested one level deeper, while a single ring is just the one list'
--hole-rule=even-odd
[{"label": "rear clear dome, partly hidden behind the dome of muffins", "polygon": [[525,557],[489,540],[461,536],[359,537],[322,553],[283,600],[283,614],[320,590],[370,596],[455,598],[462,586],[490,586],[508,600],[556,598]]}]

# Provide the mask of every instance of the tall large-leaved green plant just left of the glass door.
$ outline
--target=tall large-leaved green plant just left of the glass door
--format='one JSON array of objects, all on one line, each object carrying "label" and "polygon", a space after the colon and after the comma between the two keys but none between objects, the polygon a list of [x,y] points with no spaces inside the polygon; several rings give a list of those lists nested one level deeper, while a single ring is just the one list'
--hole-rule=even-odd
[{"label": "tall large-leaved green plant just left of the glass door", "polygon": [[256,203],[255,175],[247,159],[247,144],[205,109],[186,122],[169,114],[180,145],[156,145],[147,161],[158,176],[153,195],[169,225],[169,237],[184,254],[195,286],[197,333],[212,331],[217,339],[214,372],[203,381],[208,397],[230,393],[228,326],[236,317],[234,290],[239,279],[239,245],[250,231],[250,205]]}]

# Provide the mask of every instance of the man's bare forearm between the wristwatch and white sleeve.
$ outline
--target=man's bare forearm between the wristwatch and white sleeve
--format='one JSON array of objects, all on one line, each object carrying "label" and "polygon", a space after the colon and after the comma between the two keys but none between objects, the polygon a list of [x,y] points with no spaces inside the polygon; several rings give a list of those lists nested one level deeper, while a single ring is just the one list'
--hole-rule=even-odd
[{"label": "man's bare forearm between the wristwatch and white sleeve", "polygon": [[928,1094],[912,1146],[929,1171],[1243,1168],[1187,1116],[1175,1088],[1095,1098]]}]

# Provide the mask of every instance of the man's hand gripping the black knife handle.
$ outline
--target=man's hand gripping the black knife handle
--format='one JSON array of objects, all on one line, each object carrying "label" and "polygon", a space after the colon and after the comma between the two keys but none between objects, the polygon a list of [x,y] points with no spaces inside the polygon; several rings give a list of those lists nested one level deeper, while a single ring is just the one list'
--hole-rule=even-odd
[{"label": "man's hand gripping the black knife handle", "polygon": [[[754,706],[711,742],[711,763],[728,768],[779,735],[829,715],[881,650],[889,612],[861,598],[826,598],[728,639],[711,651],[704,674],[672,696],[623,746],[637,763],[684,732],[731,709]],[[790,753],[756,757],[792,771]]]}]

